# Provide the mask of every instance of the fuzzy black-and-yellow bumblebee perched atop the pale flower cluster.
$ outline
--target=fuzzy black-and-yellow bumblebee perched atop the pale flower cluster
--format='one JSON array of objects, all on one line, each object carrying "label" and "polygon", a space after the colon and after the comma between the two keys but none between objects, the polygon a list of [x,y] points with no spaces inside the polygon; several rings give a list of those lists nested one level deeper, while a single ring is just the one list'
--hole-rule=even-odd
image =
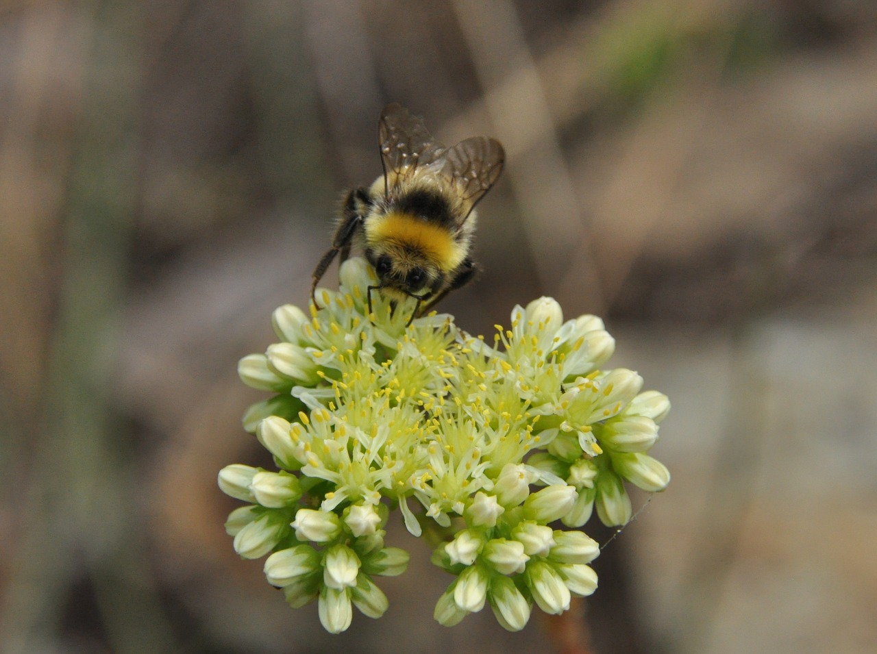
[{"label": "fuzzy black-and-yellow bumblebee perched atop the pale flower cluster", "polygon": [[336,256],[344,261],[356,245],[378,278],[368,287],[369,314],[377,290],[394,301],[415,298],[413,320],[473,279],[475,205],[503,172],[505,153],[486,137],[441,146],[423,119],[398,103],[381,112],[378,143],[383,174],[371,187],[347,193],[310,296],[318,308],[317,283]]}]

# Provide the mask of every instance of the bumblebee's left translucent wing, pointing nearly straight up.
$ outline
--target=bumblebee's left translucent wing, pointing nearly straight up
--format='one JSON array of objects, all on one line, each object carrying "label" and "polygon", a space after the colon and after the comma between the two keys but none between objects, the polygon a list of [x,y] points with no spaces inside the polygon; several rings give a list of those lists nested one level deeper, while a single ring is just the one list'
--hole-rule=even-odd
[{"label": "bumblebee's left translucent wing, pointing nearly straight up", "polygon": [[426,130],[423,119],[412,116],[399,103],[388,104],[381,111],[378,143],[388,190],[410,179],[418,167],[428,166],[446,153]]}]

